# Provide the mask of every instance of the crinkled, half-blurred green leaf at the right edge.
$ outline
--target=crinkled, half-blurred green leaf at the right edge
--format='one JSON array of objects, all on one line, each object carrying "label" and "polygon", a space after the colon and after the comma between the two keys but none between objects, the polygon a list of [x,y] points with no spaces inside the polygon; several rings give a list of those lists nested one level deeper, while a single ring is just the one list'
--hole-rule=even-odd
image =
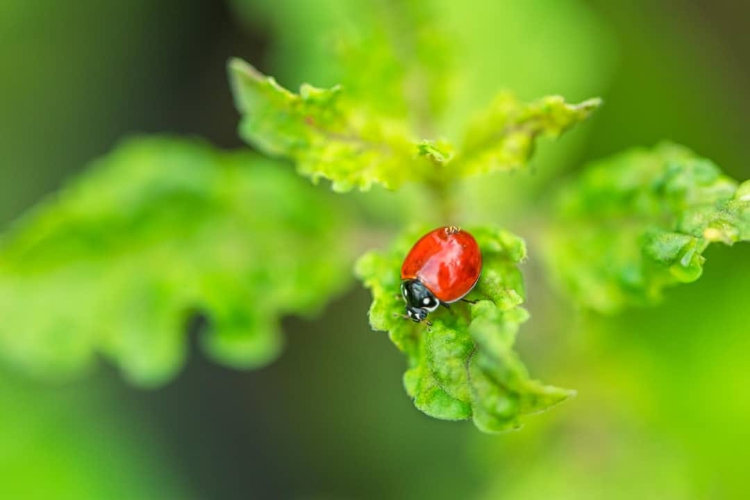
[{"label": "crinkled, half-blurred green leaf at the right edge", "polygon": [[697,280],[713,242],[750,240],[750,182],[738,185],[679,145],[593,163],[562,190],[547,261],[586,307],[654,304]]}]

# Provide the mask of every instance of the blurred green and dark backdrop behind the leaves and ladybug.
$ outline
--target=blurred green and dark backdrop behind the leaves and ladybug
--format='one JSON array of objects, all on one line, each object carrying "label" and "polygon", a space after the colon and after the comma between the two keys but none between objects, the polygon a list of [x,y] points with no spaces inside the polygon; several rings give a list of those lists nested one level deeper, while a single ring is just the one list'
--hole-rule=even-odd
[{"label": "blurred green and dark backdrop behind the leaves and ladybug", "polygon": [[[292,88],[334,84],[326,37],[368,22],[373,3],[0,1],[0,221],[128,134],[241,146],[226,59]],[[287,349],[263,370],[219,367],[195,346],[152,391],[104,364],[64,385],[0,369],[0,498],[750,496],[750,248],[712,247],[697,283],[605,319],[550,289],[523,216],[587,160],[660,139],[750,178],[750,6],[489,3],[436,2],[460,61],[446,133],[499,88],[605,101],[540,148],[535,175],[466,187],[469,214],[529,237],[519,349],[534,376],[578,397],[508,435],[434,421],[404,394],[404,360],[369,330],[355,287],[320,319],[285,320]],[[366,197],[377,211],[383,193]]]}]

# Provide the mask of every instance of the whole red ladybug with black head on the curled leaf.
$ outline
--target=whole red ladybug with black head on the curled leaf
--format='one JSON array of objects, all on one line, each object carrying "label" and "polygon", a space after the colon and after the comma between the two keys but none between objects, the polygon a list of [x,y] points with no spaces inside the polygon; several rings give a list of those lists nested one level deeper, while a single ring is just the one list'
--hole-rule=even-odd
[{"label": "whole red ladybug with black head on the curled leaf", "polygon": [[404,319],[425,322],[440,304],[466,301],[463,297],[480,274],[481,251],[472,235],[455,226],[433,229],[419,238],[401,265]]}]

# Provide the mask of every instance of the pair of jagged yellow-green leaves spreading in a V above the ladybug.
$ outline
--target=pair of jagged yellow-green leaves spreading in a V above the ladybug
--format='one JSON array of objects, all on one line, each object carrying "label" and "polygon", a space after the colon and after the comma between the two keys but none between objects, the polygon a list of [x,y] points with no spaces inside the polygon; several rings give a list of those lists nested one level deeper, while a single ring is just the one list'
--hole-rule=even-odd
[{"label": "pair of jagged yellow-green leaves spreading in a V above the ladybug", "polygon": [[420,142],[406,122],[363,111],[339,87],[305,84],[294,94],[239,59],[230,61],[229,73],[242,137],[266,154],[290,157],[313,181],[330,179],[337,191],[368,190],[372,184],[395,189],[407,181],[444,186],[469,175],[518,169],[529,161],[538,136],[559,136],[600,103],[571,105],[552,96],[523,104],[502,93],[474,118],[462,148],[451,155],[449,142]]}]

